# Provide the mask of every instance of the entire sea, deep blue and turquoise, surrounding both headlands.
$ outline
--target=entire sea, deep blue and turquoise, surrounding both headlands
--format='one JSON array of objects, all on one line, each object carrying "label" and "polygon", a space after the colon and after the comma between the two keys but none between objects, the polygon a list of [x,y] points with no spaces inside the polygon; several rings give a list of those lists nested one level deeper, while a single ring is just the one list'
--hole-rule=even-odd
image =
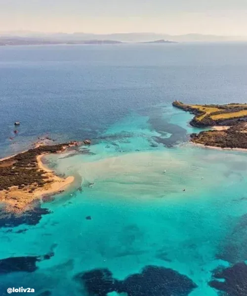
[{"label": "entire sea, deep blue and turquoise, surrounding both headlands", "polygon": [[174,100],[246,103],[247,43],[0,47],[0,157],[92,142],[45,157],[75,184],[0,219],[1,296],[244,295],[210,282],[247,260],[247,153],[191,144]]}]

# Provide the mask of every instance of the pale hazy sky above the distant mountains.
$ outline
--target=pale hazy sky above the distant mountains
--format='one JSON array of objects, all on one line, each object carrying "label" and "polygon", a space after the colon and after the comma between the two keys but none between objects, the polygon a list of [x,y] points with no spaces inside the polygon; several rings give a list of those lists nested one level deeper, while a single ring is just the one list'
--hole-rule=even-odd
[{"label": "pale hazy sky above the distant mountains", "polygon": [[0,0],[0,31],[247,36],[247,0]]}]

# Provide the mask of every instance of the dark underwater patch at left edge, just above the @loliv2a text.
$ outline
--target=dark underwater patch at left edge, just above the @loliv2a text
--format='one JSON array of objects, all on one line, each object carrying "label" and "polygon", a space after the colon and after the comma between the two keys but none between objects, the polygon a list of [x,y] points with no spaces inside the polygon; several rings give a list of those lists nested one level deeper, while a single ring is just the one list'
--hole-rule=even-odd
[{"label": "dark underwater patch at left edge, just above the @loliv2a text", "polygon": [[52,256],[54,256],[53,252],[44,256],[9,257],[0,259],[0,274],[10,272],[34,272],[38,269],[36,265],[37,262],[50,259]]}]

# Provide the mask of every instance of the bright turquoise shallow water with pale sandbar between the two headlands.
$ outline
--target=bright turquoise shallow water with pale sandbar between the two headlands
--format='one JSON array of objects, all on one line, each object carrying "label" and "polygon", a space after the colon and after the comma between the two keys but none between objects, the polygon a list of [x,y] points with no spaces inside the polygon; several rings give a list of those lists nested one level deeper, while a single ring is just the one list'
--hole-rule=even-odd
[{"label": "bright turquoise shallow water with pale sandbar between the two headlands", "polygon": [[[168,123],[193,132],[190,114],[163,108]],[[130,114],[112,125],[104,135],[109,137],[91,146],[93,155],[48,157],[57,172],[80,176],[83,191],[71,189],[45,204],[53,213],[25,226],[25,236],[2,234],[5,257],[46,254],[56,244],[55,256],[40,262],[38,271],[11,274],[6,283],[21,277],[26,285],[35,282],[37,291],[84,295],[73,280],[78,272],[107,267],[123,279],[155,264],[191,278],[198,288],[190,296],[217,295],[207,282],[213,268],[229,265],[217,254],[247,212],[247,154],[188,142],[151,147],[161,134],[149,118]],[[240,253],[243,248],[239,244]]]}]

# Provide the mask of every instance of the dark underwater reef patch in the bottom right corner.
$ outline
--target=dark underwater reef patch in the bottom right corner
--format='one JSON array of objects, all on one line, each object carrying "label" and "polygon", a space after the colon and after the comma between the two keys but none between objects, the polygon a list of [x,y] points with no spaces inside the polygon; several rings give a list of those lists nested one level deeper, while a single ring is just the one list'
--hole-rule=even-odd
[{"label": "dark underwater reef patch in the bottom right corner", "polygon": [[213,280],[209,286],[225,292],[225,296],[247,296],[247,265],[244,262],[237,263],[232,267],[215,270],[213,277],[225,281]]}]

